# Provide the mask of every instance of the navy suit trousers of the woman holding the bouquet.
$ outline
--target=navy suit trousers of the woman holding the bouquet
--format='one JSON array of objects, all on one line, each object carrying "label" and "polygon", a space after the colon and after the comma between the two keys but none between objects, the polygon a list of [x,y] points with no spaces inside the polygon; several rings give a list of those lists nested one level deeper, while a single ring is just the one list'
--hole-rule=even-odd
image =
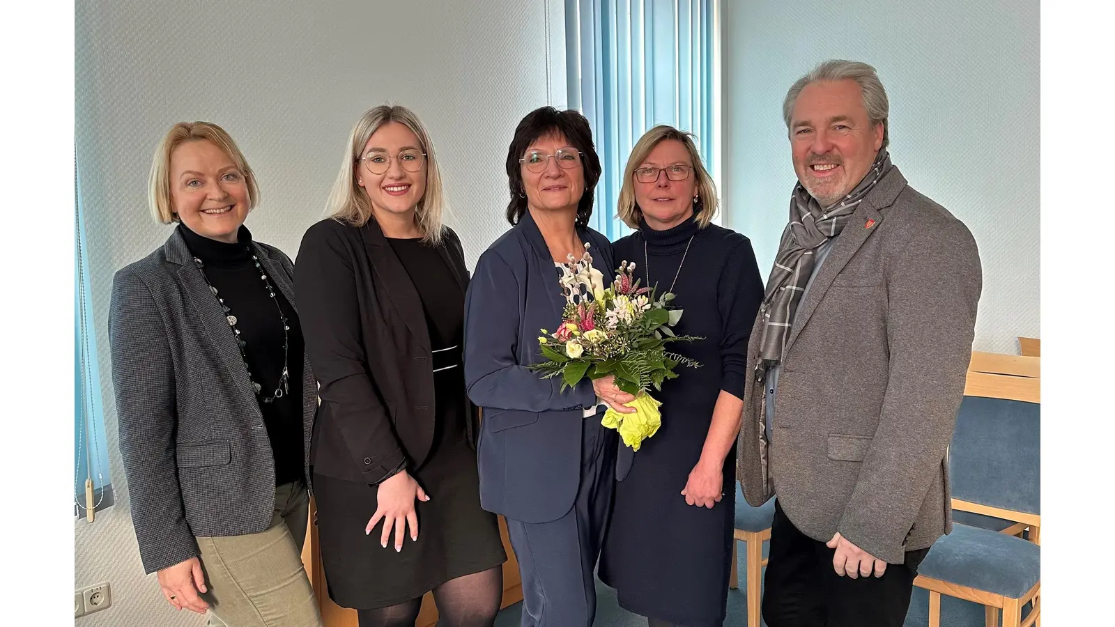
[{"label": "navy suit trousers of the woman holding the bouquet", "polygon": [[573,509],[551,522],[506,519],[523,579],[521,627],[592,625],[597,558],[615,490],[615,431],[601,426],[599,415],[585,418],[581,485]]}]

